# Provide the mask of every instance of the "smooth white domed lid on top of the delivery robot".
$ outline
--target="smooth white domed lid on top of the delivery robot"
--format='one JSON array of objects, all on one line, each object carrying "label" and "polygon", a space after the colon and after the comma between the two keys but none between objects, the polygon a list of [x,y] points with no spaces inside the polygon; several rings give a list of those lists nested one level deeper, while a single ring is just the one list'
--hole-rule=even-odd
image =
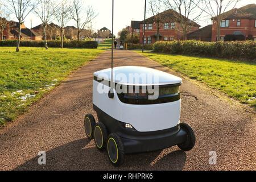
[{"label": "smooth white domed lid on top of the delivery robot", "polygon": [[[111,81],[111,72],[111,69],[95,72],[94,79]],[[152,68],[128,66],[113,68],[113,82],[133,86],[173,85],[181,84],[182,79]]]}]

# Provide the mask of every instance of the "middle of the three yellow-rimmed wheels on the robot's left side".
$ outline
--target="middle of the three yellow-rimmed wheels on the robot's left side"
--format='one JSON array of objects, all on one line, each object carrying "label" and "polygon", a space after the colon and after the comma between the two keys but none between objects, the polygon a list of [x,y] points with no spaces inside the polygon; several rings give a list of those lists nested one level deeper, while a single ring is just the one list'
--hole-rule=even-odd
[{"label": "middle of the three yellow-rimmed wheels on the robot's left side", "polygon": [[106,149],[107,140],[108,130],[106,129],[104,123],[98,122],[94,127],[94,142],[98,150],[104,151]]}]

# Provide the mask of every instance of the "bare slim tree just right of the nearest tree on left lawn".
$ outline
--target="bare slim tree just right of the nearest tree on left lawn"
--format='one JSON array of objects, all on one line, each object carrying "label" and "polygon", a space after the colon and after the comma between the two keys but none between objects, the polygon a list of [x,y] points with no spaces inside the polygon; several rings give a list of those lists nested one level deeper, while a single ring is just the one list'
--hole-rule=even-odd
[{"label": "bare slim tree just right of the nearest tree on left lawn", "polygon": [[53,0],[38,0],[38,6],[35,7],[34,13],[38,15],[42,22],[43,27],[43,38],[44,38],[44,47],[48,49],[47,45],[47,35],[46,28],[48,24],[53,19],[55,14],[55,1]]}]

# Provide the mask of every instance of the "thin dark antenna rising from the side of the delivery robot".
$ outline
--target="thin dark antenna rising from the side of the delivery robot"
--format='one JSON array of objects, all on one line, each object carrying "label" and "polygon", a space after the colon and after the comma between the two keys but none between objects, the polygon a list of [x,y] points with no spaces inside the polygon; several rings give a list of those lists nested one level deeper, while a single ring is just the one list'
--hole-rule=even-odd
[{"label": "thin dark antenna rising from the side of the delivery robot", "polygon": [[114,76],[113,76],[113,60],[114,60],[114,0],[112,0],[112,49],[111,49],[111,82],[109,90],[109,98],[114,98]]}]

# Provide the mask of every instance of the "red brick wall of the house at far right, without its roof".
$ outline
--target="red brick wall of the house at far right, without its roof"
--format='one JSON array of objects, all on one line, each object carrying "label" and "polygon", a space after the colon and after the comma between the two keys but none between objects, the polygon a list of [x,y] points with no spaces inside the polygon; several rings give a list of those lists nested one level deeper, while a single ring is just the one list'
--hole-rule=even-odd
[{"label": "red brick wall of the house at far right, without its roof", "polygon": [[[241,19],[241,25],[237,26],[237,19],[230,19],[229,20],[229,27],[220,28],[221,36],[225,36],[228,34],[233,34],[234,31],[241,31],[245,34],[246,38],[248,35],[253,35],[256,38],[256,27],[254,27],[255,19]],[[213,23],[212,26],[212,41],[216,42],[217,39],[217,24],[216,22]]]}]

